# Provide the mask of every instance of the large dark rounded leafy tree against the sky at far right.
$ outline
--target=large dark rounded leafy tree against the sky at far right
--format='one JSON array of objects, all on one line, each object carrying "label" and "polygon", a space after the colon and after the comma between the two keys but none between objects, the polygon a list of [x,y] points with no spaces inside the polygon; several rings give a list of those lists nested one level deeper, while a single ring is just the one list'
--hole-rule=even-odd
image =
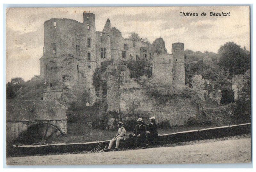
[{"label": "large dark rounded leafy tree against the sky at far right", "polygon": [[220,61],[218,65],[229,70],[231,75],[244,74],[250,69],[250,52],[234,42],[227,42],[218,50]]}]

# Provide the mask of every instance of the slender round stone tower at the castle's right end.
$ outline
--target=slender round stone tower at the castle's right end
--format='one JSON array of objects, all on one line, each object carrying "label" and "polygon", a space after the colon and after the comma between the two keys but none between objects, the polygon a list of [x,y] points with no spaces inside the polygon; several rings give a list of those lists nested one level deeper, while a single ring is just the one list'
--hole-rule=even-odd
[{"label": "slender round stone tower at the castle's right end", "polygon": [[173,86],[185,85],[185,67],[184,67],[184,44],[177,42],[172,44],[173,56]]}]

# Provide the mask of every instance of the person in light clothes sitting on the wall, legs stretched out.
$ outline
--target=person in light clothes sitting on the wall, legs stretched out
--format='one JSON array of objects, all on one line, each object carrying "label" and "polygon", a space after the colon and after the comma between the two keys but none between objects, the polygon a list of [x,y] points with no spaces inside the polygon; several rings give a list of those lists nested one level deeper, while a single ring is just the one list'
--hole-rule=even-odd
[{"label": "person in light clothes sitting on the wall, legs stretched out", "polygon": [[116,141],[116,148],[114,149],[114,151],[118,151],[120,140],[124,140],[125,135],[126,135],[126,130],[123,126],[124,126],[124,124],[122,122],[119,121],[117,123],[118,132],[117,132],[116,136],[112,140],[110,140],[108,149],[104,150],[105,152],[108,152],[111,150],[111,147],[115,141]]}]

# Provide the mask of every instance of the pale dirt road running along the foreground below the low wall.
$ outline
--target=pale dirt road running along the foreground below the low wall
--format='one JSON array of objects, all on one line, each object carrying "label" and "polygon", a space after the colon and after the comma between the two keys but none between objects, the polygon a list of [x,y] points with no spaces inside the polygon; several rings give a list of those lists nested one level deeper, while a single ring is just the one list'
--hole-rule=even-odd
[{"label": "pale dirt road running along the foreground below the low wall", "polygon": [[176,147],[157,147],[93,154],[7,158],[9,165],[249,163],[251,138],[232,138]]}]

